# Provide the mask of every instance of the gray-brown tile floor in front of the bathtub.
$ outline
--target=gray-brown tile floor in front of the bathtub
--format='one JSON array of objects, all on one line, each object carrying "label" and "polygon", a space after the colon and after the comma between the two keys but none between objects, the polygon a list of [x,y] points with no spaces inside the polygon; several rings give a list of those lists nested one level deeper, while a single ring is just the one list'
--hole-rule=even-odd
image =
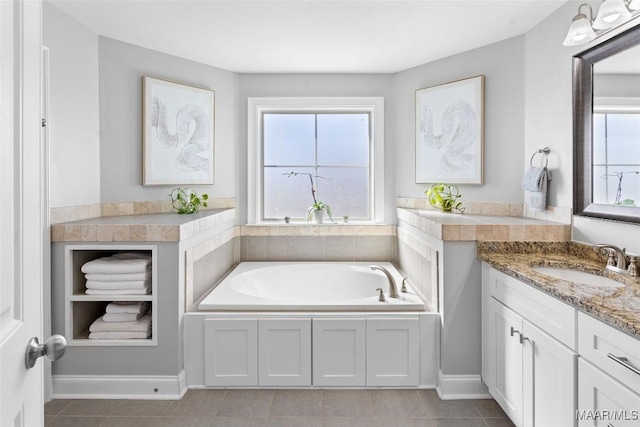
[{"label": "gray-brown tile floor in front of the bathtub", "polygon": [[493,400],[435,390],[189,390],[182,400],[54,400],[47,427],[510,427]]}]

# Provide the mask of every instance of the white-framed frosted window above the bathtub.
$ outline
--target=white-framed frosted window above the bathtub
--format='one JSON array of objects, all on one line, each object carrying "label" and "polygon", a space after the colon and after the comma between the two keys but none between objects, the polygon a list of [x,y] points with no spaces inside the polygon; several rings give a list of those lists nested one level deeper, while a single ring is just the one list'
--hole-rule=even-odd
[{"label": "white-framed frosted window above the bathtub", "polygon": [[250,98],[249,223],[304,221],[310,177],[334,218],[382,222],[382,107],[381,98]]}]

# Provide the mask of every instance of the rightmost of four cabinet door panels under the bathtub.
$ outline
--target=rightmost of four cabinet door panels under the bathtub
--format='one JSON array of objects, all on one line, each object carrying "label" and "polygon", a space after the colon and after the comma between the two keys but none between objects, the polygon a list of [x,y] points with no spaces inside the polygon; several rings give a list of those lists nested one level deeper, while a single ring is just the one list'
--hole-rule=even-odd
[{"label": "rightmost of four cabinet door panels under the bathtub", "polygon": [[418,385],[419,331],[417,318],[367,319],[367,385]]}]

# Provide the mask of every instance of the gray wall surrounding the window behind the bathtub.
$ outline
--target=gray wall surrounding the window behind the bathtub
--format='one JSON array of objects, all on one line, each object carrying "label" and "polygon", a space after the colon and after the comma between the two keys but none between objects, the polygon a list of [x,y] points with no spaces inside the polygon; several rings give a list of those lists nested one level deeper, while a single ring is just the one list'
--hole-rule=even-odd
[{"label": "gray wall surrounding the window behind the bathtub", "polygon": [[241,74],[238,93],[240,223],[247,222],[247,99],[269,96],[382,96],[385,100],[384,199],[385,222],[395,221],[394,164],[396,138],[392,133],[393,112],[389,111],[392,94],[387,74]]}]

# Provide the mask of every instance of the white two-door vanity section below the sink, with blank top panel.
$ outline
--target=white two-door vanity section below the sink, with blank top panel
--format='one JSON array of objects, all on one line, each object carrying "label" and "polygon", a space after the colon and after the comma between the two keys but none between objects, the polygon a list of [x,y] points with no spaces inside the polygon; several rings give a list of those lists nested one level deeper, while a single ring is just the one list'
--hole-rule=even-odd
[{"label": "white two-door vanity section below the sink, with blank top panel", "polygon": [[576,424],[575,316],[483,264],[483,381],[517,426]]}]

